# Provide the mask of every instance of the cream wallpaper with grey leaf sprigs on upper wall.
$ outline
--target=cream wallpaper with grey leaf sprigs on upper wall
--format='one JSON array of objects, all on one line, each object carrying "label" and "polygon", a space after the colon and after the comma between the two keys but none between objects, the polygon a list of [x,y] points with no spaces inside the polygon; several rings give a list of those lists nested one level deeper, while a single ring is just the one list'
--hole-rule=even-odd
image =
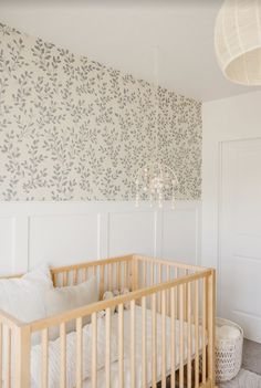
[{"label": "cream wallpaper with grey leaf sprigs on upper wall", "polygon": [[[201,195],[201,103],[158,88],[159,158]],[[0,24],[0,200],[129,200],[154,158],[155,90]]]}]

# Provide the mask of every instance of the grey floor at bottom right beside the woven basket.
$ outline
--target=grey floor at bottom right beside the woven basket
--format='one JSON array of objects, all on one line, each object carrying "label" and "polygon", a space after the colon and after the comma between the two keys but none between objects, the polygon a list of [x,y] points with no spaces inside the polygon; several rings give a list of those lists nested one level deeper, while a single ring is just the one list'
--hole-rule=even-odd
[{"label": "grey floor at bottom right beside the woven basket", "polygon": [[261,388],[261,344],[244,339],[242,369],[219,388]]}]

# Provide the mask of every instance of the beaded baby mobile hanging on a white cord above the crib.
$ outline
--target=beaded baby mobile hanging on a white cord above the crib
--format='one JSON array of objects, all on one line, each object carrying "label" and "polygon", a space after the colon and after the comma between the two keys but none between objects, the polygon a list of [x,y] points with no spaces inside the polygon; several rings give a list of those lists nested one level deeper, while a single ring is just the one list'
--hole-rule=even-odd
[{"label": "beaded baby mobile hanging on a white cord above the crib", "polygon": [[135,206],[138,207],[142,200],[148,200],[149,206],[163,207],[165,200],[171,200],[171,209],[175,209],[175,191],[178,187],[178,179],[170,166],[160,162],[158,157],[158,50],[155,50],[155,102],[156,102],[156,125],[155,125],[155,153],[154,160],[143,166],[135,176]]}]

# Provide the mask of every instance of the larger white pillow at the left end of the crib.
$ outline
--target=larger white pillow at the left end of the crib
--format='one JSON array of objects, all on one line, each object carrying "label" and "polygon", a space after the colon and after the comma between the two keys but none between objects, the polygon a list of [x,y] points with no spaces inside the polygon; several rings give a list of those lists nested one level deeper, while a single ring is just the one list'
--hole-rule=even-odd
[{"label": "larger white pillow at the left end of the crib", "polygon": [[0,280],[0,308],[29,323],[45,317],[45,293],[53,289],[50,270],[42,265],[19,279]]}]

